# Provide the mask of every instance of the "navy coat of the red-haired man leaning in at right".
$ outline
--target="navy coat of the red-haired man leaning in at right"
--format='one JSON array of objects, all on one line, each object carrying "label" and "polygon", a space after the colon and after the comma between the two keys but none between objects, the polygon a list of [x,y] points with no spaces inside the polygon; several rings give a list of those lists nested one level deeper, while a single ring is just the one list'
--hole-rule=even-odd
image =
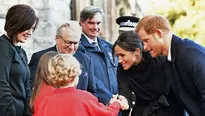
[{"label": "navy coat of the red-haired man leaning in at right", "polygon": [[190,116],[205,116],[205,48],[175,35],[166,73]]}]

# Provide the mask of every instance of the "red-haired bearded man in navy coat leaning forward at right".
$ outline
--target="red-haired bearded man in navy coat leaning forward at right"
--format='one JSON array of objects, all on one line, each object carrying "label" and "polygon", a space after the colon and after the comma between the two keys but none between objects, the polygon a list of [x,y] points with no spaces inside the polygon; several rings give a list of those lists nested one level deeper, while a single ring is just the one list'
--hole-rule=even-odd
[{"label": "red-haired bearded man in navy coat leaning forward at right", "polygon": [[165,72],[190,116],[205,116],[205,48],[174,35],[161,15],[144,16],[136,27],[152,57],[167,56]]}]

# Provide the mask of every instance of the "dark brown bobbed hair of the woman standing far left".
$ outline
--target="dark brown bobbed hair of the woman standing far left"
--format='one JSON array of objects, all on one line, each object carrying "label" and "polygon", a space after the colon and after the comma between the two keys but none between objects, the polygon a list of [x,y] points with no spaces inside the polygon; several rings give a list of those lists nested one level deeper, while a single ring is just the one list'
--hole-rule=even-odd
[{"label": "dark brown bobbed hair of the woman standing far left", "polygon": [[38,21],[35,11],[30,6],[24,4],[14,5],[6,14],[4,30],[13,42],[18,33],[30,29],[34,23],[36,23],[35,30]]}]

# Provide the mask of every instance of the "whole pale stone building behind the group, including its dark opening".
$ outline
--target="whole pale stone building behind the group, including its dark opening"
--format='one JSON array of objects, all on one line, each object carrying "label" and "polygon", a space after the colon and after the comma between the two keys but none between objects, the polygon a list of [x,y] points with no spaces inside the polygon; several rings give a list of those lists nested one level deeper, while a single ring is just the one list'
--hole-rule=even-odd
[{"label": "whole pale stone building behind the group, including its dark opening", "polygon": [[33,52],[55,44],[55,32],[59,24],[68,20],[79,21],[80,10],[85,6],[98,6],[104,10],[101,36],[113,42],[118,36],[115,20],[122,15],[141,17],[138,0],[0,0],[0,35],[4,33],[5,15],[14,4],[28,4],[39,16],[39,26],[31,39],[22,45],[30,59]]}]

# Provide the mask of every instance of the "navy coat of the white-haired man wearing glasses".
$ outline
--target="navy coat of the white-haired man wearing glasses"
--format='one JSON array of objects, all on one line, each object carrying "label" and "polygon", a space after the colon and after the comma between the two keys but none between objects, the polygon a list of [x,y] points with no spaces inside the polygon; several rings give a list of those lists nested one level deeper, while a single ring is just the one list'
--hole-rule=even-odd
[{"label": "navy coat of the white-haired man wearing glasses", "polygon": [[[32,83],[34,83],[34,80],[35,80],[35,74],[36,74],[37,65],[40,60],[40,57],[44,53],[49,52],[49,51],[57,52],[56,46],[36,52],[32,55],[30,63],[29,63]],[[96,92],[97,92],[96,82],[95,82],[95,77],[93,74],[93,66],[92,66],[91,59],[87,55],[81,52],[76,52],[74,54],[74,57],[82,65],[82,74],[79,76],[79,82],[78,82],[77,88],[81,90],[87,90],[96,96]]]}]

